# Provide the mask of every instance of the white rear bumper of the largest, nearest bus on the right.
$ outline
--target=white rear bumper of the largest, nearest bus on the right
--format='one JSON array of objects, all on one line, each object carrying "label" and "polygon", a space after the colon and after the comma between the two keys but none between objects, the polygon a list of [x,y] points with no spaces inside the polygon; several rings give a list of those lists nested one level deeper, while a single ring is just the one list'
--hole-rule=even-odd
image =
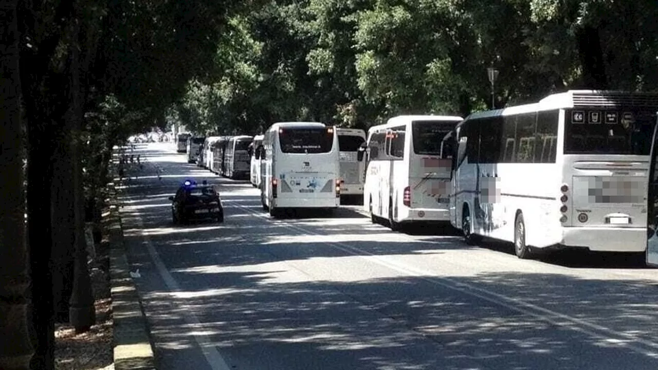
[{"label": "white rear bumper of the largest, nearest bus on the right", "polygon": [[565,227],[560,244],[591,251],[641,252],[647,248],[647,231],[645,228]]}]

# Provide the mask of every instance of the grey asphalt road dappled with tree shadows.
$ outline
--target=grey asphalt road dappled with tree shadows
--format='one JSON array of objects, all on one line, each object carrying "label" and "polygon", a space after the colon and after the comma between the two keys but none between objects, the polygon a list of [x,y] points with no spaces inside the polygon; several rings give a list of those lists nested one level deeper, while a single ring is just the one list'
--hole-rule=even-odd
[{"label": "grey asphalt road dappled with tree shadows", "polygon": [[[658,275],[610,254],[520,260],[346,206],[271,219],[248,181],[140,144],[125,242],[160,369],[658,369]],[[225,221],[172,225],[185,178]]]}]

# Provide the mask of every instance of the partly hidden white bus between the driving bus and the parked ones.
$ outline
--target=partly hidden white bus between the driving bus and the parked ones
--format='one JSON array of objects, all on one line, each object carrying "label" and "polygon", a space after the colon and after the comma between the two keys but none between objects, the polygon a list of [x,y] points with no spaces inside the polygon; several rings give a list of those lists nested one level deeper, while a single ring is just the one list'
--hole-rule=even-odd
[{"label": "partly hidden white bus between the driving bus and the parked ones", "polygon": [[357,159],[359,148],[366,141],[366,132],[359,128],[336,128],[340,155],[340,195],[363,198],[363,161]]}]

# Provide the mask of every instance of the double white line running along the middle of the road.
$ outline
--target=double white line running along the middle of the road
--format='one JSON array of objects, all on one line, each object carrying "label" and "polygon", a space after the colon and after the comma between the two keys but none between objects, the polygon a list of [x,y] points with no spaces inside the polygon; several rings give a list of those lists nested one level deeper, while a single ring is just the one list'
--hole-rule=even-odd
[{"label": "double white line running along the middle of the road", "polygon": [[[249,207],[244,207],[243,205],[240,205],[238,203],[234,203],[234,205],[236,207],[245,209],[245,211],[255,215],[256,217],[260,217],[262,219],[270,218],[268,215],[253,211],[253,209],[250,209]],[[323,236],[323,234],[313,232],[313,230],[308,230],[301,226],[290,225],[285,222],[280,223],[280,225],[286,228],[290,228],[291,230],[296,230],[298,232],[301,231],[301,232],[305,232],[306,234]],[[369,253],[368,251],[361,250],[359,248],[356,248],[349,244],[345,244],[343,242],[321,242],[321,243],[327,244],[328,246],[333,246],[334,248],[345,251],[352,255],[363,257],[368,261],[373,261],[375,263],[386,266],[395,271],[399,271],[405,274],[411,274],[413,276],[417,276],[418,278],[422,278],[427,282],[432,282],[433,284],[438,284],[445,288],[456,290],[458,292],[468,294],[470,296],[474,296],[482,300],[486,300],[488,302],[492,302],[493,304],[501,305],[503,307],[513,309],[514,311],[536,317],[543,321],[547,321],[548,323],[551,323],[553,325],[582,332],[584,334],[588,334],[594,338],[598,338],[605,342],[615,343],[617,344],[617,346],[628,348],[629,350],[638,352],[645,356],[658,358],[658,352],[656,352],[655,350],[649,350],[647,348],[642,348],[641,346],[629,344],[628,341],[635,342],[636,344],[640,344],[642,346],[646,346],[648,348],[658,350],[658,343],[652,342],[651,340],[645,340],[643,338],[639,338],[634,334],[618,332],[616,330],[609,329],[607,327],[603,327],[595,323],[590,323],[589,321],[586,320],[578,319],[576,317],[565,315],[564,313],[559,313],[551,309],[530,304],[528,302],[519,300],[517,298],[505,296],[504,294],[495,293],[490,290],[486,290],[484,288],[478,288],[477,286],[474,286],[472,284],[468,284],[465,282],[457,282],[447,277],[437,277],[436,275],[428,271],[422,271],[420,269],[416,269],[415,267],[411,267],[406,264],[397,263],[397,261],[390,261],[385,257],[374,255],[372,253]],[[624,338],[624,339],[620,339],[620,338]]]}]

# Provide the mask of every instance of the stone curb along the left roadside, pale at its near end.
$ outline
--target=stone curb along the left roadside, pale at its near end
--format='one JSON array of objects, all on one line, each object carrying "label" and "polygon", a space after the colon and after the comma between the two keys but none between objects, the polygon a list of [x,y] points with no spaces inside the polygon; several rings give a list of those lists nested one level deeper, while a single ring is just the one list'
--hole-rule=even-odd
[{"label": "stone curb along the left roadside, pale at its near end", "polygon": [[126,257],[123,230],[113,191],[108,216],[115,370],[155,370],[146,316]]}]

